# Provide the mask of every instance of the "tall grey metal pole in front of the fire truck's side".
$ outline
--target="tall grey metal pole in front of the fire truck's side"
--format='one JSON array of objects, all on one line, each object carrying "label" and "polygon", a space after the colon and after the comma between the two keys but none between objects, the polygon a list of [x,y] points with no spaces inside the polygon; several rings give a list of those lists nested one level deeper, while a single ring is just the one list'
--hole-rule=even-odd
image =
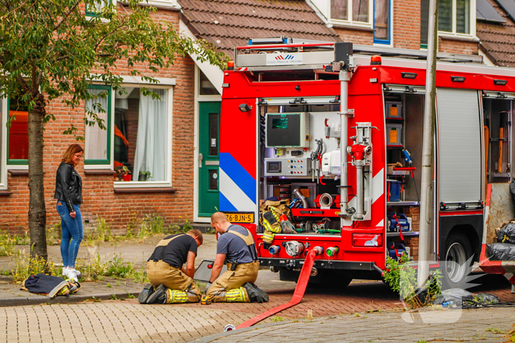
[{"label": "tall grey metal pole in front of the fire truck's side", "polygon": [[433,186],[433,134],[435,130],[436,103],[436,52],[438,42],[438,0],[429,2],[427,32],[427,66],[425,78],[425,103],[422,140],[422,186],[420,194],[420,236],[418,256],[418,287],[429,276],[431,248],[432,186]]}]

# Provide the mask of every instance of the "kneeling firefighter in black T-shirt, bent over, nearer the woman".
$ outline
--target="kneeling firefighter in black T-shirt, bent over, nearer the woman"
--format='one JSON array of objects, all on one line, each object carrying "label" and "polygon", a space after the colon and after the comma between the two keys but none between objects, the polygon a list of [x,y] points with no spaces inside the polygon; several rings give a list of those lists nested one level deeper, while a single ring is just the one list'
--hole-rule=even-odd
[{"label": "kneeling firefighter in black T-shirt, bent over, nearer the woman", "polygon": [[[162,239],[147,261],[147,276],[151,282],[140,293],[138,300],[147,304],[198,302],[201,293],[193,277],[197,247],[202,244],[202,233],[193,229]],[[183,264],[186,263],[186,268]]]}]

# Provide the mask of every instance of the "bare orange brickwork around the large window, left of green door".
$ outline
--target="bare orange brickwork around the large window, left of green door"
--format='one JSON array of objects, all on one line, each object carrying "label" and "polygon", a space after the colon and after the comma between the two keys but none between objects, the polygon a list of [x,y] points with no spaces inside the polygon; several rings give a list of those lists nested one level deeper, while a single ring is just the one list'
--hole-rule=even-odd
[{"label": "bare orange brickwork around the large window, left of green door", "polygon": [[[179,27],[177,11],[161,9],[151,15],[173,23],[177,29]],[[84,174],[83,164],[79,164],[76,169],[83,183],[81,212],[84,219],[93,221],[96,215],[101,216],[111,224],[115,232],[125,231],[133,213],[138,217],[159,214],[165,218],[165,225],[184,223],[186,219],[193,219],[194,62],[189,57],[178,56],[174,66],[161,70],[158,74],[152,73],[143,65],[135,67],[147,76],[177,80],[173,88],[172,133],[172,187],[177,189],[177,192],[115,193],[113,174]],[[115,73],[129,75],[129,71],[123,62],[119,62]],[[46,107],[46,111],[56,117],[55,121],[47,123],[44,133],[43,164],[48,225],[60,221],[54,200],[55,174],[62,154],[75,142],[72,136],[65,136],[62,132],[73,123],[79,129],[79,133],[84,135],[83,107],[72,110],[63,104],[62,100],[56,99]],[[0,230],[24,233],[28,229],[28,176],[12,176],[8,173],[7,182],[8,190],[12,194],[0,196]]]}]

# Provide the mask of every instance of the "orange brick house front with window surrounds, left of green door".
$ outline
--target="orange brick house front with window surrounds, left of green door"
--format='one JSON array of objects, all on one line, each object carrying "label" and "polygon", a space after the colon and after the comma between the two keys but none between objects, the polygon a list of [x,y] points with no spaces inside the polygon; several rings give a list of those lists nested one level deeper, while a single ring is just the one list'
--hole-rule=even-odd
[{"label": "orange brick house front with window surrounds, left of green door", "polygon": [[[118,6],[122,5],[118,4]],[[151,13],[151,16],[171,22],[179,30],[180,10],[171,3],[167,6],[161,5],[158,8],[155,13]],[[145,76],[159,78],[162,81],[160,87],[164,88],[168,95],[171,95],[169,101],[171,109],[166,113],[167,118],[172,121],[169,125],[171,132],[168,132],[168,134],[170,134],[173,151],[167,156],[167,158],[171,158],[168,163],[168,166],[173,169],[170,173],[171,177],[166,179],[168,185],[158,185],[161,187],[156,187],[153,184],[146,185],[146,183],[138,185],[136,182],[132,185],[132,188],[122,188],[125,185],[115,185],[115,182],[113,182],[114,113],[111,113],[111,128],[106,132],[106,135],[110,136],[109,140],[111,142],[111,146],[107,149],[110,150],[109,164],[91,166],[81,162],[76,167],[82,177],[83,204],[81,212],[86,226],[88,226],[88,223],[94,223],[96,216],[105,218],[115,232],[124,231],[133,215],[142,218],[145,214],[156,213],[166,219],[166,224],[181,224],[186,220],[192,221],[193,219],[192,166],[194,137],[190,128],[194,125],[194,98],[192,94],[195,88],[195,63],[188,56],[184,58],[179,56],[174,66],[163,69],[157,74],[146,70],[143,65],[138,65],[136,68],[143,71]],[[127,82],[124,83],[127,88],[138,88],[143,85],[141,78],[129,77],[129,69],[123,62],[119,63],[115,74],[127,78]],[[113,92],[112,102],[114,98]],[[134,99],[128,100],[129,103],[134,103]],[[2,144],[0,147],[2,148],[3,160],[0,168],[0,173],[2,173],[0,184],[3,188],[0,191],[0,206],[2,207],[2,211],[0,211],[0,230],[24,233],[27,230],[28,221],[28,169],[26,163],[16,159],[16,157],[24,156],[20,155],[22,154],[20,151],[16,152],[15,147],[13,147],[14,144],[24,145],[24,143],[21,140],[16,140],[17,137],[8,141],[9,132],[5,125],[7,113],[9,113],[7,103],[7,99],[2,99],[0,104],[2,114],[0,135]],[[52,225],[60,221],[56,211],[56,201],[54,200],[56,170],[66,148],[75,142],[73,136],[63,135],[62,132],[73,122],[78,128],[79,134],[84,137],[85,127],[82,121],[84,107],[72,110],[62,103],[62,99],[56,99],[47,104],[46,111],[56,117],[55,121],[46,124],[44,133],[45,205],[47,224]],[[135,124],[138,125],[137,122]],[[12,127],[10,130],[13,130]],[[132,130],[132,134],[134,136],[136,130]],[[88,137],[85,138],[88,139]],[[127,138],[131,141],[130,147],[132,148],[129,155],[134,155],[136,139],[130,136]],[[10,143],[10,148],[8,143]],[[80,144],[84,147],[88,144],[88,141]]]}]

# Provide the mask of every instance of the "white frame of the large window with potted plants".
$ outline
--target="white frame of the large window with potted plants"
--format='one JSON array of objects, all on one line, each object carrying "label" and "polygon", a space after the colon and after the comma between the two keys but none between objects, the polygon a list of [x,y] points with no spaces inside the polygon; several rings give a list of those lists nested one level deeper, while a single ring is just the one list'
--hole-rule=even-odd
[{"label": "white frame of the large window with potted plants", "polygon": [[[134,77],[124,77],[124,81],[130,80],[130,79],[138,79]],[[141,79],[141,78],[139,78]],[[114,188],[118,189],[127,189],[127,188],[148,188],[148,187],[171,187],[171,178],[172,178],[172,149],[173,149],[173,122],[174,122],[174,113],[173,113],[173,99],[174,99],[174,87],[175,85],[175,79],[168,79],[170,82],[164,83],[164,84],[153,84],[153,83],[144,83],[144,82],[134,82],[134,83],[128,83],[124,82],[122,84],[122,87],[135,87],[135,88],[141,88],[143,86],[148,88],[159,88],[159,89],[167,89],[168,90],[168,134],[167,134],[167,148],[168,148],[168,155],[166,156],[166,163],[168,172],[166,175],[167,180],[166,181],[114,181]],[[173,81],[173,82],[172,82]],[[173,84],[171,84],[173,83]],[[112,130],[112,139],[111,144],[113,148],[111,149],[111,161],[114,164],[114,102],[115,102],[115,94],[113,92],[112,97],[112,106],[113,106],[113,116],[111,120],[113,121],[113,130]]]}]

